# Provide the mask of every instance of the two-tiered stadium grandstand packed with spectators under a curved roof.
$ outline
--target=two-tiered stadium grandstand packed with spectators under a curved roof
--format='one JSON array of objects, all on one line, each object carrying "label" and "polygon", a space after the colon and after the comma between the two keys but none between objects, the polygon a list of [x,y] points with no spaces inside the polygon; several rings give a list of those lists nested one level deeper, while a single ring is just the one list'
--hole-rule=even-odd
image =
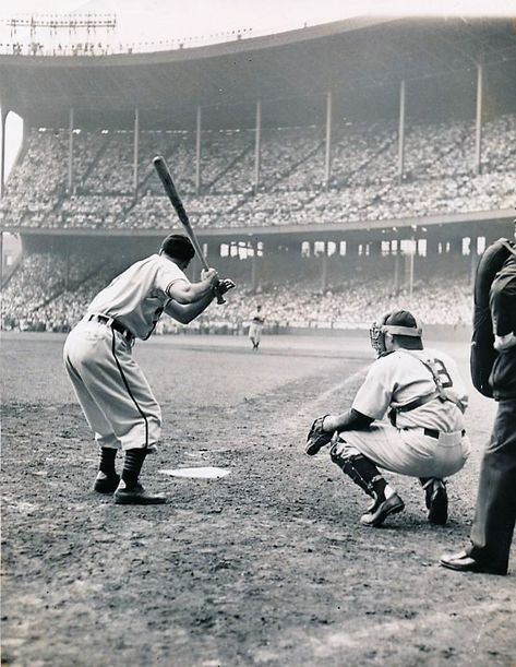
[{"label": "two-tiered stadium grandstand packed with spectators under a curved roof", "polygon": [[478,257],[516,205],[513,21],[360,17],[187,47],[0,55],[3,329],[68,331],[180,228],[158,154],[239,285],[193,331],[242,333],[257,303],[274,332],[395,306],[469,325]]}]

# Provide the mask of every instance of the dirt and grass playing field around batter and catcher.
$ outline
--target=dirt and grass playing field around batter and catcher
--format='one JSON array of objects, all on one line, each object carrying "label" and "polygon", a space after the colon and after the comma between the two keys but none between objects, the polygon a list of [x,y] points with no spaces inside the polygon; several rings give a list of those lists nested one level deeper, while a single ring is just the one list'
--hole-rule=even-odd
[{"label": "dirt and grass playing field around batter and catcher", "polygon": [[[388,475],[407,509],[371,529],[327,453],[303,454],[311,419],[352,397],[367,341],[267,337],[256,354],[156,338],[135,350],[164,413],[143,481],[170,501],[123,508],[91,490],[97,452],[62,341],[2,342],[4,664],[516,664],[514,572],[436,564],[469,534],[491,402],[471,391],[473,454],[449,481],[448,525],[427,523],[416,480]],[[466,372],[467,347],[451,352]],[[230,474],[159,473],[203,465]]]}]

